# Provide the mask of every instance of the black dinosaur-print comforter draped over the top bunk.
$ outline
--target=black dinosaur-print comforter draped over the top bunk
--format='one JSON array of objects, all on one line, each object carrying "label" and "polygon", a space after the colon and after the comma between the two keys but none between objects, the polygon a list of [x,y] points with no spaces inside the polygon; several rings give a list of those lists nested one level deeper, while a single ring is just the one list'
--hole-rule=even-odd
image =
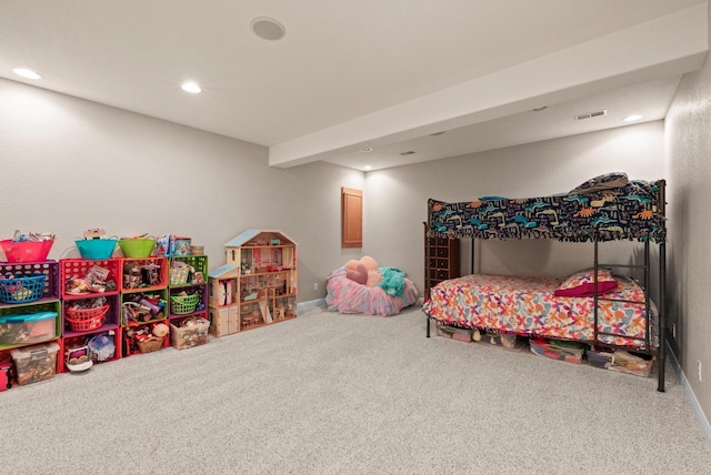
[{"label": "black dinosaur-print comforter draped over the top bunk", "polygon": [[584,194],[542,198],[481,198],[471,202],[428,202],[430,238],[560,241],[634,240],[664,242],[660,206],[663,181],[630,181],[624,186]]}]

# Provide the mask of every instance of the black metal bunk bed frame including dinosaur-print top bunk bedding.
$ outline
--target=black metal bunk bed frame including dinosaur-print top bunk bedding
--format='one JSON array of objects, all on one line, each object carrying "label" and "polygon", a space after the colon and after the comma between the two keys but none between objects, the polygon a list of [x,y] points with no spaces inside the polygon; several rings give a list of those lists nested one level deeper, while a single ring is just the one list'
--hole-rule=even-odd
[{"label": "black metal bunk bed frame including dinosaur-print top bunk bedding", "polygon": [[[643,305],[647,331],[642,338],[625,335],[628,338],[642,340],[641,348],[634,352],[645,353],[658,358],[658,391],[664,392],[664,366],[667,360],[667,315],[665,315],[665,181],[630,181],[623,186],[592,192],[573,190],[568,194],[534,198],[504,199],[490,198],[472,202],[445,203],[430,199],[428,202],[428,238],[471,239],[471,272],[474,272],[474,243],[477,239],[553,239],[572,242],[593,242],[594,256],[594,316],[593,338],[578,340],[582,343],[603,344],[605,336],[621,336],[614,332],[599,330],[599,309],[601,302],[614,301],[632,305]],[[600,263],[599,243],[604,241],[628,240],[643,243],[641,264]],[[651,327],[651,259],[650,243],[659,247],[659,342],[655,347]],[[430,246],[425,245],[425,262],[430,262]],[[641,270],[643,273],[643,301],[609,299],[598,292],[599,269]],[[425,272],[425,295],[431,295],[431,276]],[[429,299],[429,297],[428,297]],[[427,336],[430,337],[430,321],[437,320],[428,312]]]}]

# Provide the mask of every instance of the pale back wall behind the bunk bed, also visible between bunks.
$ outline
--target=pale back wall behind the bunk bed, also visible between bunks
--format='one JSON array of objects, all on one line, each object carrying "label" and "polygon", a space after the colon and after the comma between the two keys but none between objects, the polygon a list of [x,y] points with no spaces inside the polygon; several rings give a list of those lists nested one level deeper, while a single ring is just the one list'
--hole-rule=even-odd
[{"label": "pale back wall behind the bunk bed, also visible between bunks", "polygon": [[[423,286],[427,200],[471,201],[483,195],[543,196],[567,192],[610,171],[631,179],[663,174],[663,122],[548,140],[429,163],[369,172],[365,178],[364,247],[381,265],[403,269]],[[640,244],[601,244],[608,262],[627,263]],[[469,270],[469,241],[462,270]],[[592,265],[592,245],[547,240],[487,241],[477,271],[563,276]]]}]

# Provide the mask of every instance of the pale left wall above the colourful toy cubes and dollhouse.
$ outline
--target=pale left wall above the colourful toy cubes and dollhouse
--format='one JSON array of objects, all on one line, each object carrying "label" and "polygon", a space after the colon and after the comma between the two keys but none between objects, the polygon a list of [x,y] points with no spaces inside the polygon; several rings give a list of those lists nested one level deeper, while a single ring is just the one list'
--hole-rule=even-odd
[{"label": "pale left wall above the colourful toy cubes and dollhouse", "polygon": [[0,238],[57,233],[50,259],[78,256],[74,239],[102,228],[191,236],[213,269],[234,235],[277,229],[299,244],[310,301],[353,255],[340,249],[340,188],[362,189],[362,172],[269,168],[263,146],[3,79],[0,158]]}]

